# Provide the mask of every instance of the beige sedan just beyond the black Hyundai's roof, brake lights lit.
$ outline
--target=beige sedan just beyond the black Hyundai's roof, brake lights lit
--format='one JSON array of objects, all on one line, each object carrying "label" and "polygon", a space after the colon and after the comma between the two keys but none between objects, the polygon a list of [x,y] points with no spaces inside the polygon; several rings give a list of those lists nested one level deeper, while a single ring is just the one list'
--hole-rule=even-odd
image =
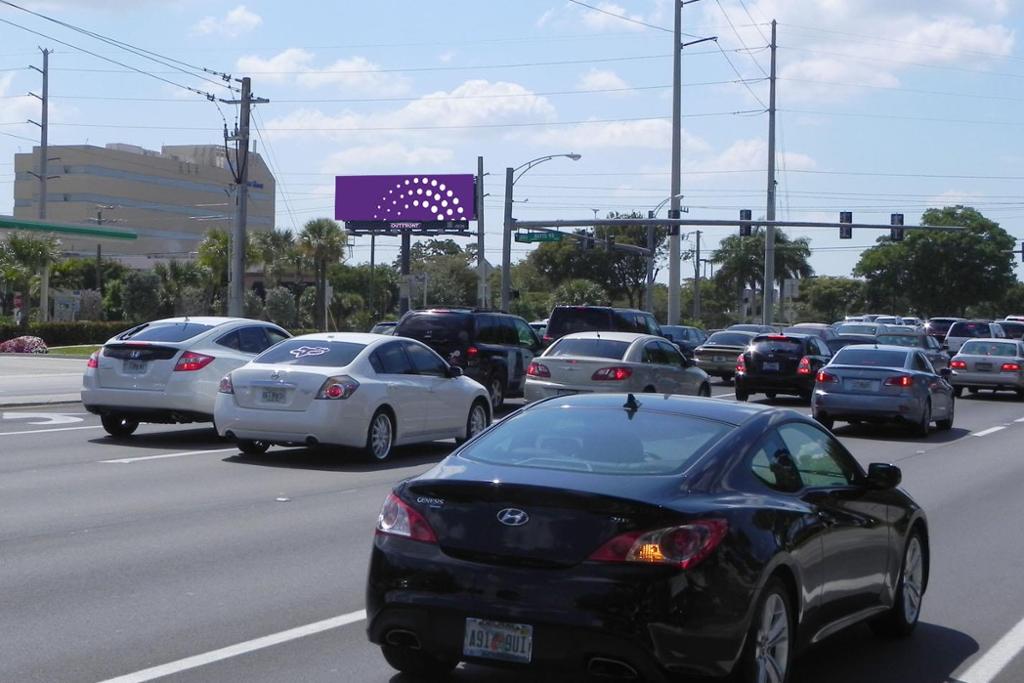
[{"label": "beige sedan just beyond the black Hyundai's roof, brake lights lit", "polygon": [[526,400],[632,391],[710,396],[708,373],[664,337],[635,332],[565,335],[526,370]]}]

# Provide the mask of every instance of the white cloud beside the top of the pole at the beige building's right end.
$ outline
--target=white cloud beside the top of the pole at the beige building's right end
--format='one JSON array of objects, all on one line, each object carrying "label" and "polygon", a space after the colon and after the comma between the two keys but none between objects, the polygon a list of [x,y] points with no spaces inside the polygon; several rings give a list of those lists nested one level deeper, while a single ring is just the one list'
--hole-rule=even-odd
[{"label": "white cloud beside the top of the pole at the beige building's right end", "polygon": [[366,57],[338,59],[327,67],[315,67],[316,56],[298,47],[290,47],[269,59],[255,55],[240,57],[240,72],[259,75],[269,83],[298,83],[307,88],[338,86],[378,95],[396,95],[409,90],[409,80],[384,73],[379,65]]}]

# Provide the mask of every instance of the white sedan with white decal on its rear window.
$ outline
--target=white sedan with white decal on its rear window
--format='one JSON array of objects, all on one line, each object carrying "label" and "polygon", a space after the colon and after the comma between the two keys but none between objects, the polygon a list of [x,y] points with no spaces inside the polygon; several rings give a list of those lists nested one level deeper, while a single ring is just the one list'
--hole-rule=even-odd
[{"label": "white sedan with white decal on its rear window", "polygon": [[271,444],[360,449],[463,440],[490,422],[487,390],[413,339],[354,333],[293,337],[221,380],[217,432],[247,455]]}]

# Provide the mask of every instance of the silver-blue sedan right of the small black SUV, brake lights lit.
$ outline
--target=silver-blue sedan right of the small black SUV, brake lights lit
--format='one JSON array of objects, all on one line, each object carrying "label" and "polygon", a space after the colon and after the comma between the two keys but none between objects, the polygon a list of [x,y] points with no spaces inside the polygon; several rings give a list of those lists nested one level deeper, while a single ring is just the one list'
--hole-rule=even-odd
[{"label": "silver-blue sedan right of the small black SUV, brake lights lit", "polygon": [[936,374],[920,349],[847,346],[818,371],[811,411],[829,429],[837,420],[896,422],[927,436],[932,422],[943,430],[953,426],[949,374]]}]

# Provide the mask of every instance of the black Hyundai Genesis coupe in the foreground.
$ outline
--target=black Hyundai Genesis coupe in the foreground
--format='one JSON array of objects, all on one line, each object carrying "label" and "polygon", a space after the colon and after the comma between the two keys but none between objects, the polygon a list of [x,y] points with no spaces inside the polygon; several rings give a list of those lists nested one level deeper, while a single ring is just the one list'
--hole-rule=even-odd
[{"label": "black Hyundai Genesis coupe in the foreground", "polygon": [[416,676],[464,660],[784,683],[845,627],[914,628],[928,526],[899,481],[793,411],[534,403],[387,497],[369,637]]}]

